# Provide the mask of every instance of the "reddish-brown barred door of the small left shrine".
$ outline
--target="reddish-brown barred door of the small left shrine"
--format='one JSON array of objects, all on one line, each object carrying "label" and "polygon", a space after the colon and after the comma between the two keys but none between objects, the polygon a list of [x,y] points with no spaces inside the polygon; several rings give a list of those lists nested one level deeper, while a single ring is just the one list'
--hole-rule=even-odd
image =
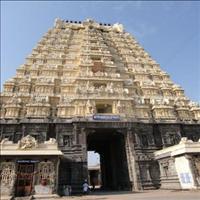
[{"label": "reddish-brown barred door of the small left shrine", "polygon": [[33,163],[19,163],[16,181],[16,196],[30,196],[34,175]]}]

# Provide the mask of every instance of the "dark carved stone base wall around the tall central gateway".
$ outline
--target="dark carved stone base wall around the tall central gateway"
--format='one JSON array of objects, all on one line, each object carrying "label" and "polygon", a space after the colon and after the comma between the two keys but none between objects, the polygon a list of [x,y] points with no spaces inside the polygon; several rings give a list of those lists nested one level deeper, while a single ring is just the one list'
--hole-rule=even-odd
[{"label": "dark carved stone base wall around the tall central gateway", "polygon": [[[87,130],[95,128],[114,128],[129,135],[129,144],[126,143],[126,159],[128,159],[129,176],[133,173],[132,184],[138,183],[139,189],[158,188],[163,172],[159,172],[157,161],[153,153],[166,146],[179,142],[182,136],[194,135],[200,137],[199,125],[184,124],[145,124],[145,123],[26,123],[1,124],[1,139],[7,137],[16,142],[23,135],[29,134],[40,142],[54,136],[58,147],[64,154],[61,159],[59,174],[59,190],[64,185],[71,185],[74,191],[80,191],[84,179],[87,179]],[[127,146],[128,145],[128,146]],[[129,152],[128,152],[129,151]],[[131,154],[131,156],[130,156]],[[134,159],[134,162],[133,162]],[[170,160],[163,160],[169,163]],[[65,170],[67,169],[67,170]],[[136,172],[136,173],[135,173]],[[170,175],[162,188],[173,187],[176,184],[177,174],[170,169]],[[135,177],[134,177],[135,176]],[[160,178],[161,177],[161,178]],[[178,187],[177,187],[178,188]],[[133,187],[134,189],[134,187]]]}]

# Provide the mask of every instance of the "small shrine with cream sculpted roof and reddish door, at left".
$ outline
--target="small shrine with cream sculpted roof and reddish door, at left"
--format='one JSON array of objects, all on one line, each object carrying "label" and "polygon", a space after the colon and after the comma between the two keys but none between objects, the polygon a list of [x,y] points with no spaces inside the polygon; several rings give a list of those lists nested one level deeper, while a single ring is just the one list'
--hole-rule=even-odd
[{"label": "small shrine with cream sculpted roof and reddish door, at left", "polygon": [[63,153],[50,138],[44,143],[27,135],[18,143],[1,145],[1,197],[52,196],[58,189],[58,167]]}]

